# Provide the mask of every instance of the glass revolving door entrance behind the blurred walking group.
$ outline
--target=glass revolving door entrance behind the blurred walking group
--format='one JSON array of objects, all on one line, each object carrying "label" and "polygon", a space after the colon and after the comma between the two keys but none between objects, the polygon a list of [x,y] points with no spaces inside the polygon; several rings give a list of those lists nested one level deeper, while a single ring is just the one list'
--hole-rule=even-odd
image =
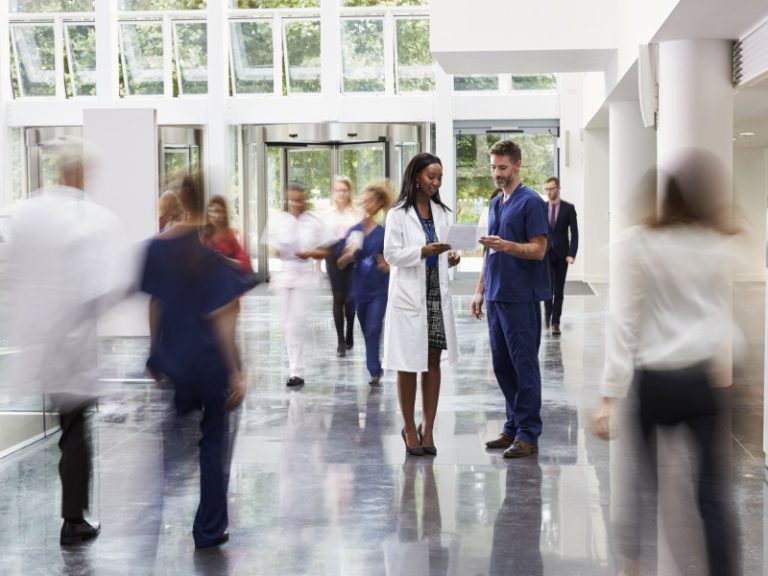
[{"label": "glass revolving door entrance behind the blurred walking group", "polygon": [[298,182],[307,189],[310,210],[330,206],[335,175],[352,182],[352,199],[371,180],[390,178],[395,186],[410,159],[422,150],[424,124],[282,124],[243,127],[243,242],[254,271],[268,280],[280,262],[264,243],[269,214],[285,209],[285,190]]}]

